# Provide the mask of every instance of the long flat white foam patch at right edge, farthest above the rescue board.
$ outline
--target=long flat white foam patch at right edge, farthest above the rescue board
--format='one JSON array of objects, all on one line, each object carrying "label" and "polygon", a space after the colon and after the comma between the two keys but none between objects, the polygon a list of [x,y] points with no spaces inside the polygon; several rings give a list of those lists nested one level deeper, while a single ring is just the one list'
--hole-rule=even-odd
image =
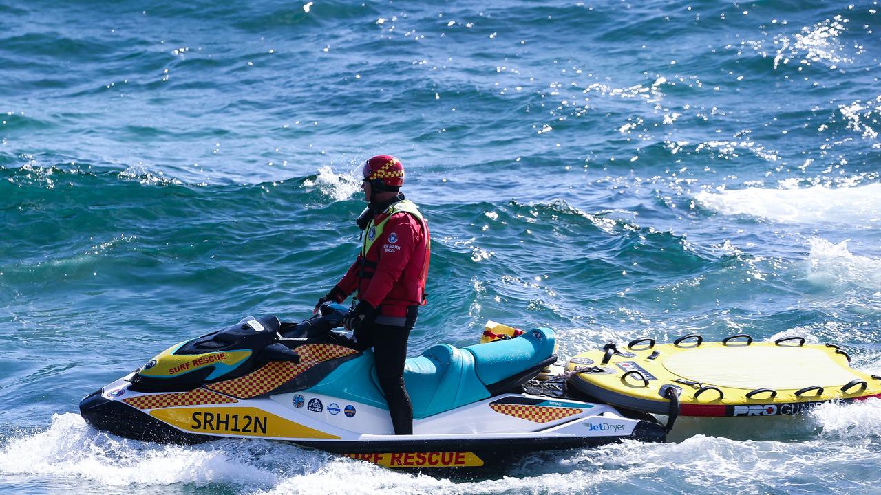
[{"label": "long flat white foam patch at right edge, farthest above the rescue board", "polygon": [[785,223],[881,224],[881,183],[852,188],[744,188],[701,191],[694,199],[726,215],[751,215]]}]

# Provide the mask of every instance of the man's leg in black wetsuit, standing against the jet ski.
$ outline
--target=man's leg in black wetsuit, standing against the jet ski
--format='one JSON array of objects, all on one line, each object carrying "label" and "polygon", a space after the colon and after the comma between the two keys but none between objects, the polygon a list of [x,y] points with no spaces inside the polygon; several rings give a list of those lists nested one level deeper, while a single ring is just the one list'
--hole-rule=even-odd
[{"label": "man's leg in black wetsuit, standing against the jet ski", "polygon": [[413,433],[413,406],[403,384],[403,362],[407,358],[410,329],[393,325],[374,325],[376,376],[389,403],[391,424],[396,435]]}]

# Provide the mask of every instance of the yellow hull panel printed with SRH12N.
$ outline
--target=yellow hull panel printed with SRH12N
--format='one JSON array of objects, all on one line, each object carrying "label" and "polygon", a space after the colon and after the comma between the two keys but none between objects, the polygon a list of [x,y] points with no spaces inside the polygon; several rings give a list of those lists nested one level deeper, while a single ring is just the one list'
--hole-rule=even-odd
[{"label": "yellow hull panel printed with SRH12N", "polygon": [[162,409],[151,410],[150,416],[188,432],[278,439],[339,440],[337,435],[320,432],[254,407]]}]

